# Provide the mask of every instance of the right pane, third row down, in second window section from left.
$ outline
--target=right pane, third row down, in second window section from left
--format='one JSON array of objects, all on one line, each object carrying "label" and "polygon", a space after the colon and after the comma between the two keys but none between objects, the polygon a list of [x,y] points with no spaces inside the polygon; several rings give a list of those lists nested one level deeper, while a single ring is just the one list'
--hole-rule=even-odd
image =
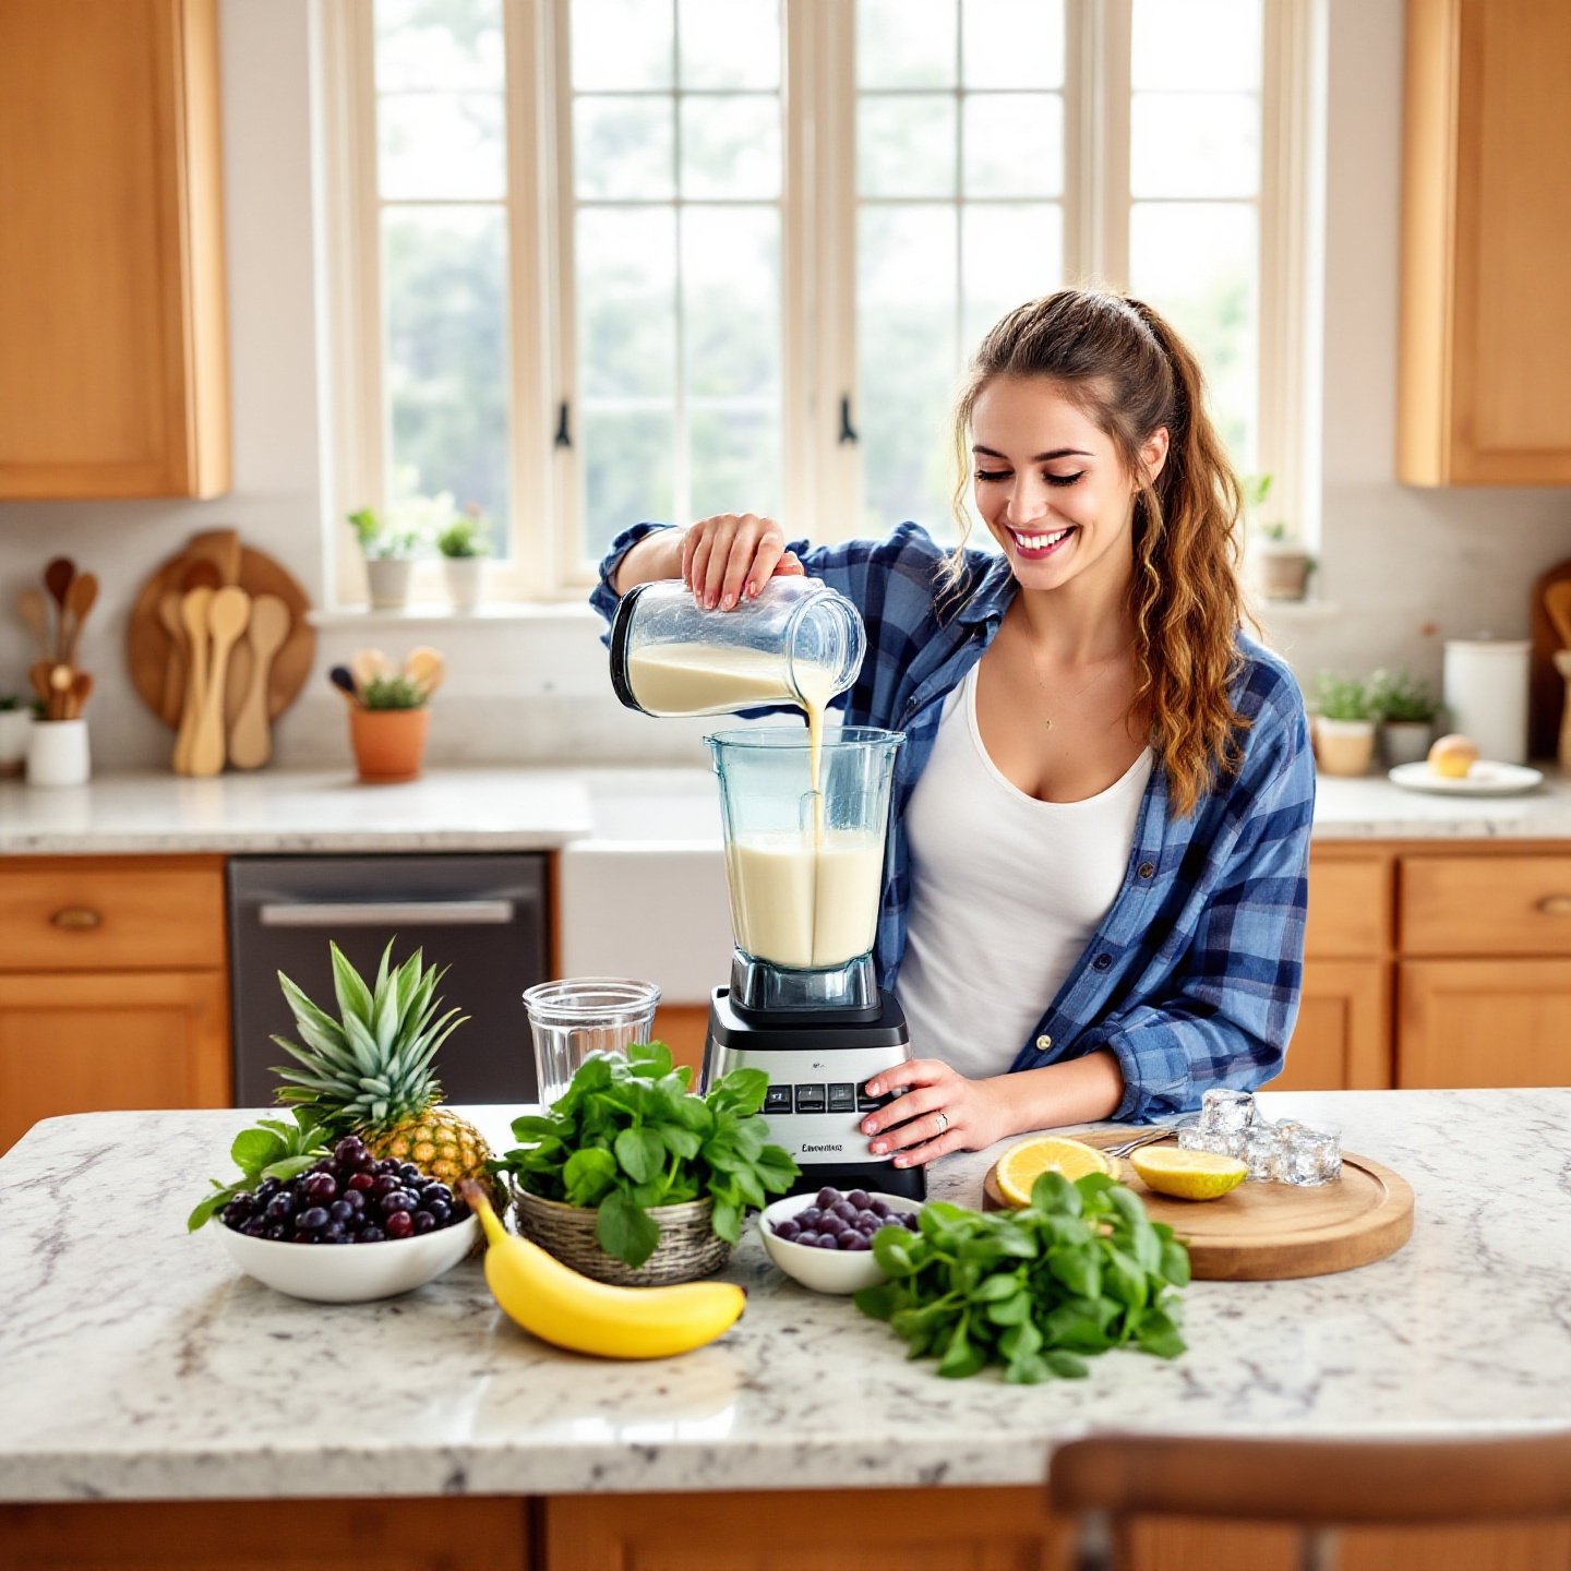
[{"label": "right pane, third row down, in second window section from left", "polygon": [[693,397],[767,396],[778,407],[779,228],[776,207],[683,209],[682,363]]}]

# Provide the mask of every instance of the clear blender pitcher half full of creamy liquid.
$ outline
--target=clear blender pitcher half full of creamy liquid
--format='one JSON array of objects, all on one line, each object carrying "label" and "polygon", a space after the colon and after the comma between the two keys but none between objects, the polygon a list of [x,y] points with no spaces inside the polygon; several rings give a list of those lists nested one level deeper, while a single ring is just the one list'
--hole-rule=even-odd
[{"label": "clear blender pitcher half full of creamy liquid", "polygon": [[875,1010],[889,786],[905,740],[847,726],[705,737],[720,776],[735,935],[732,998],[759,1010]]}]

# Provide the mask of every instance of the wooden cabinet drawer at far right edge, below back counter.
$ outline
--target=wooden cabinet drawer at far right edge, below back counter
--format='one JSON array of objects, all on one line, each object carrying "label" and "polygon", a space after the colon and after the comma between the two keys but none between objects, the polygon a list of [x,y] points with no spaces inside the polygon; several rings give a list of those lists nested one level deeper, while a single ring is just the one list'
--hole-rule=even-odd
[{"label": "wooden cabinet drawer at far right edge, below back counter", "polygon": [[1404,856],[1409,955],[1571,955],[1571,856]]}]

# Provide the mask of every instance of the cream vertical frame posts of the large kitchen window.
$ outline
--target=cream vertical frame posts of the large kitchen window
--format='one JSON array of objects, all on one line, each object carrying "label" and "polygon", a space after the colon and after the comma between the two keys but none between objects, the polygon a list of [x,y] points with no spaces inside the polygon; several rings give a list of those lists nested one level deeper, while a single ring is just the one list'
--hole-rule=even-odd
[{"label": "cream vertical frame posts of the large kitchen window", "polygon": [[[492,562],[493,603],[578,600],[575,449],[555,443],[572,353],[570,0],[501,0],[507,159],[509,441],[514,558]],[[382,291],[374,27],[369,5],[322,6],[322,272],[331,443],[328,599],[363,595],[344,515],[385,504]],[[790,533],[859,514],[859,459],[839,441],[840,399],[858,408],[855,8],[782,0],[782,515]],[[1064,276],[1126,287],[1131,0],[1065,0]],[[1274,511],[1318,536],[1320,265],[1324,209],[1324,0],[1263,0],[1258,256],[1258,468]],[[525,83],[520,90],[518,83]],[[826,148],[848,149],[831,159]],[[1269,396],[1266,396],[1269,393]],[[528,520],[547,520],[533,525]],[[633,522],[633,520],[628,520]],[[894,520],[891,520],[892,523]],[[415,569],[416,603],[441,602],[440,561]]]}]

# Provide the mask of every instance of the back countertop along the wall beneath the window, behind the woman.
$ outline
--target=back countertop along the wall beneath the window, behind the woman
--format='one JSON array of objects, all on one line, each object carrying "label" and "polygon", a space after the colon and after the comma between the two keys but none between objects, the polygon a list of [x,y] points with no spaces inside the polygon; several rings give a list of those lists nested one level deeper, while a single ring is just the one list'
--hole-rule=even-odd
[{"label": "back countertop along the wall beneath the window, behind the woman", "polygon": [[[602,833],[599,809],[630,782],[647,786],[655,820],[676,814],[650,820],[652,842],[687,833],[694,795],[713,801],[701,767],[432,768],[407,786],[361,786],[342,768],[102,775],[60,790],[0,781],[0,855],[553,850]],[[1519,796],[1434,796],[1323,775],[1315,839],[1571,839],[1571,781],[1547,771]]]}]

